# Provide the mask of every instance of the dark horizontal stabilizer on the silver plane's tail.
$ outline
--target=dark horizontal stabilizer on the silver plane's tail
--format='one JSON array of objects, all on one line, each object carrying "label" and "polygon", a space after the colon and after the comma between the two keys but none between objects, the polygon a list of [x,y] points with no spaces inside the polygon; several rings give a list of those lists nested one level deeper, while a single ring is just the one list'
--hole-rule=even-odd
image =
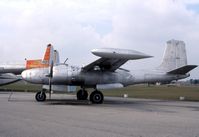
[{"label": "dark horizontal stabilizer on the silver plane's tail", "polygon": [[196,68],[197,65],[186,65],[177,69],[174,69],[172,71],[167,72],[168,74],[179,74],[183,75],[191,71],[192,69]]}]

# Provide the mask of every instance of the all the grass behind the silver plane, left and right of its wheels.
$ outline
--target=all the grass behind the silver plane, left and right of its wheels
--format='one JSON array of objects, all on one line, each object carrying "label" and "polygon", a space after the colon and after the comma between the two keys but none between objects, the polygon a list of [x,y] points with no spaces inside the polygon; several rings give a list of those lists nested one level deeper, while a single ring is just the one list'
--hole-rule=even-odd
[{"label": "all the grass behind the silver plane, left and right of its wheels", "polygon": [[[8,91],[26,91],[37,92],[42,89],[42,85],[27,84],[17,82],[14,84],[1,86],[0,90]],[[93,89],[92,89],[93,90]],[[92,91],[91,89],[89,91]],[[188,101],[199,101],[199,86],[147,86],[135,85],[121,89],[102,90],[105,96],[123,97],[128,94],[132,98],[145,99],[164,99],[164,100],[179,100],[179,97],[185,97]]]}]

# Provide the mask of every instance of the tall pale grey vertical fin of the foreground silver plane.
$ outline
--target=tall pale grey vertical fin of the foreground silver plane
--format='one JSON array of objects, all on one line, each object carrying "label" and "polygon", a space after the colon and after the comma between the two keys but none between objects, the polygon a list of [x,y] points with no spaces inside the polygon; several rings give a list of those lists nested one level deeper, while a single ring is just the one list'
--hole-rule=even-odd
[{"label": "tall pale grey vertical fin of the foreground silver plane", "polygon": [[162,64],[158,69],[169,72],[187,65],[185,43],[178,40],[167,41]]}]

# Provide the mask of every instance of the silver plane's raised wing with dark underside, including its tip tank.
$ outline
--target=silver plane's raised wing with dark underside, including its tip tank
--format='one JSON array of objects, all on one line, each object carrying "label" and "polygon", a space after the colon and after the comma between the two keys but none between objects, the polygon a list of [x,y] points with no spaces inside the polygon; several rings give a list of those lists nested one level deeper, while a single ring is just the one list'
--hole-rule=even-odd
[{"label": "silver plane's raised wing with dark underside, including its tip tank", "polygon": [[138,51],[126,49],[94,49],[92,50],[92,53],[101,58],[83,67],[84,72],[94,70],[115,71],[120,66],[125,64],[128,60],[136,60],[151,57]]}]

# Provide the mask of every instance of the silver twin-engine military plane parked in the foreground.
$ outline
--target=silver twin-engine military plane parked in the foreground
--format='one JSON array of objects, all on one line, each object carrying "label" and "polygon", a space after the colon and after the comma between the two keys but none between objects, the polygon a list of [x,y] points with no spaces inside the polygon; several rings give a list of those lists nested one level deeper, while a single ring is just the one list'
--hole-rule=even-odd
[{"label": "silver twin-engine military plane parked in the foreground", "polygon": [[[53,65],[52,62],[49,68],[25,70],[22,72],[22,77],[30,83],[49,85],[49,91],[52,85],[80,86],[81,89],[77,92],[78,100],[87,100],[86,88],[94,88],[89,96],[90,101],[101,104],[104,96],[100,89],[122,88],[139,83],[168,83],[189,77],[188,72],[197,67],[187,65],[185,43],[177,40],[167,42],[164,58],[159,67],[141,72],[120,67],[128,60],[151,57],[147,54],[112,48],[94,49],[92,53],[100,58],[84,67],[68,64]],[[37,101],[45,101],[46,94],[40,91],[35,98]]]}]

